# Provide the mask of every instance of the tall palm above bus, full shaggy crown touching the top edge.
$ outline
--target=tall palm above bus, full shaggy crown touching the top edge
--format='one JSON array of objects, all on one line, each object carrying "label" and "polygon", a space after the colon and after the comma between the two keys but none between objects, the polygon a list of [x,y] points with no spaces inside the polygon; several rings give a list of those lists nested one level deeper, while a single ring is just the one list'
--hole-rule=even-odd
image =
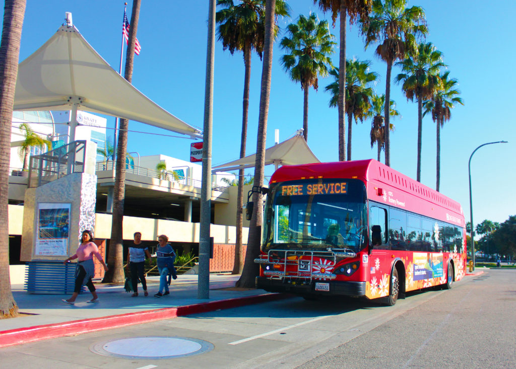
[{"label": "tall palm above bus, full shaggy crown touching the top edge", "polygon": [[[373,14],[362,24],[365,48],[378,44],[375,54],[387,63],[385,77],[385,108],[389,110],[391,101],[391,71],[396,60],[405,57],[407,51],[415,47],[415,39],[428,32],[423,8],[405,8],[406,0],[373,0]],[[389,115],[385,116],[384,127],[390,126]],[[385,164],[391,165],[391,143],[389,129],[384,129]]]}]

